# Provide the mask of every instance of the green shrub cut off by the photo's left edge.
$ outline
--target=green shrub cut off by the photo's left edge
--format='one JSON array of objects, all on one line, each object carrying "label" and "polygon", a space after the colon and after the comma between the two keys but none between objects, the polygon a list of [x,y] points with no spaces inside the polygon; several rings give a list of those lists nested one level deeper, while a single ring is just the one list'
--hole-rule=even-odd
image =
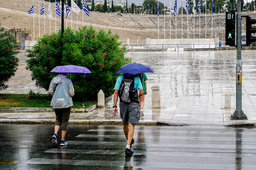
[{"label": "green shrub cut off by the photo's left edge", "polygon": [[8,88],[6,83],[18,69],[17,48],[15,37],[0,27],[0,91]]}]

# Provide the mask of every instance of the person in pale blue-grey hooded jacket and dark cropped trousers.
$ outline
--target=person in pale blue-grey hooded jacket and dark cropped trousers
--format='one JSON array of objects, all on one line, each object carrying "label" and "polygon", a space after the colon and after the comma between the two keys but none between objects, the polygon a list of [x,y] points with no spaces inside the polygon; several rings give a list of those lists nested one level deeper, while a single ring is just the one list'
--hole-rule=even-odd
[{"label": "person in pale blue-grey hooded jacket and dark cropped trousers", "polygon": [[65,135],[67,133],[67,124],[70,118],[71,106],[73,106],[72,97],[75,95],[74,87],[70,79],[67,79],[67,73],[60,73],[54,77],[49,87],[49,94],[52,95],[51,106],[56,115],[54,135],[52,143],[57,144],[58,130],[61,128],[61,146],[67,145]]}]

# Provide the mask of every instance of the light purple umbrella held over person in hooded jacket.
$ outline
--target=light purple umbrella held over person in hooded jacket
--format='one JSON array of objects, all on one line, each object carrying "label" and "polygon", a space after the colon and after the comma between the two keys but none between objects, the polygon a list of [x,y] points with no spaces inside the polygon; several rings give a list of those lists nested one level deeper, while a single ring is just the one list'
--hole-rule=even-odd
[{"label": "light purple umbrella held over person in hooded jacket", "polygon": [[57,66],[53,68],[50,72],[54,73],[83,73],[85,76],[85,73],[92,73],[88,68],[86,67],[81,67],[77,65],[62,65],[62,66]]}]

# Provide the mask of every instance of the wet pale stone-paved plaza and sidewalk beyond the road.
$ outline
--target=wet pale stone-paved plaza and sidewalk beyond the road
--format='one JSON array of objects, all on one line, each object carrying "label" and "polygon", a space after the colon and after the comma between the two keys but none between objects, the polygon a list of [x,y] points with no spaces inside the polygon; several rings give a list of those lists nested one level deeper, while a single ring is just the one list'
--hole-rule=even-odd
[{"label": "wet pale stone-paved plaza and sidewalk beyond the road", "polygon": [[[256,123],[256,60],[255,50],[242,51],[242,110],[248,120],[230,120],[236,110],[236,51],[140,51],[128,52],[133,62],[151,66],[147,73],[148,94],[145,96],[145,116],[140,124],[157,125],[232,125]],[[29,71],[25,69],[24,54],[19,54],[19,69],[10,79],[9,88],[0,93],[23,93],[35,88]],[[151,86],[160,86],[161,108],[152,109]],[[225,93],[231,94],[231,109],[224,109]],[[72,113],[70,123],[121,124],[113,115],[113,98],[105,108],[87,113]],[[119,109],[119,105],[118,109]],[[2,112],[0,122],[53,123],[54,112]],[[166,125],[166,124],[165,124]]]}]

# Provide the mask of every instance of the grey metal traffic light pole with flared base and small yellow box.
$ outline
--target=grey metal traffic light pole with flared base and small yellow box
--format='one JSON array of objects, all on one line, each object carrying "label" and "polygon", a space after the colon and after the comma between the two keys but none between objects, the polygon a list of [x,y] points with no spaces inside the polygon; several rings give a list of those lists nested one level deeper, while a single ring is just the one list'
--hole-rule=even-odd
[{"label": "grey metal traffic light pole with flared base and small yellow box", "polygon": [[237,0],[236,36],[236,111],[231,115],[231,120],[247,119],[247,116],[242,111],[241,0]]}]

